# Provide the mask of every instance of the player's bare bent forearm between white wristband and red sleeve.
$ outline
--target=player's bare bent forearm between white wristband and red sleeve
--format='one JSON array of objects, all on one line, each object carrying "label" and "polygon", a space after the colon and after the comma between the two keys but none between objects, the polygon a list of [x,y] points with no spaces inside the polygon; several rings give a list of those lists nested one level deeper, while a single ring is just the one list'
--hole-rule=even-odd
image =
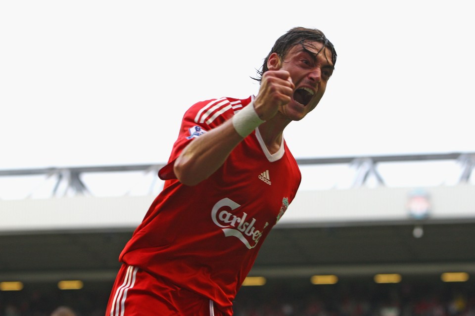
[{"label": "player's bare bent forearm between white wristband and red sleeve", "polygon": [[243,139],[229,120],[194,139],[175,161],[177,179],[186,185],[196,185],[219,169],[231,151]]}]

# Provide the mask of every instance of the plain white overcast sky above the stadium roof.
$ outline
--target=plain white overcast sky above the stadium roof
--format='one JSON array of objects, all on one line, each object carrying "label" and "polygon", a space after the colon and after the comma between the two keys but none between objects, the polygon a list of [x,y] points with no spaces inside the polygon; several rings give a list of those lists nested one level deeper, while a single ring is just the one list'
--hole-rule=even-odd
[{"label": "plain white overcast sky above the stadium roof", "polygon": [[256,94],[275,40],[319,28],[336,70],[295,157],[475,152],[471,1],[0,2],[0,170],[163,163],[184,111]]}]

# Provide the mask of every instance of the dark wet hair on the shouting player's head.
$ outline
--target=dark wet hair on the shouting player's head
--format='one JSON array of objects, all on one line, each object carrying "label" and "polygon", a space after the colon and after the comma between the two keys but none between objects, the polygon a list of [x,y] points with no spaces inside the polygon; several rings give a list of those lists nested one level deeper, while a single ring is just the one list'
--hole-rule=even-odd
[{"label": "dark wet hair on the shouting player's head", "polygon": [[287,31],[287,33],[285,33],[276,41],[274,47],[272,47],[271,51],[264,59],[264,63],[262,64],[261,70],[257,70],[257,78],[252,79],[261,82],[262,75],[269,70],[267,68],[267,61],[269,60],[269,57],[272,53],[277,53],[280,57],[284,58],[290,48],[297,44],[304,45],[306,42],[319,42],[322,43],[324,47],[330,49],[332,51],[332,63],[333,66],[335,65],[335,47],[333,47],[333,44],[327,39],[327,37],[325,36],[325,34],[323,34],[322,31],[317,29],[308,29],[304,27],[294,27]]}]

